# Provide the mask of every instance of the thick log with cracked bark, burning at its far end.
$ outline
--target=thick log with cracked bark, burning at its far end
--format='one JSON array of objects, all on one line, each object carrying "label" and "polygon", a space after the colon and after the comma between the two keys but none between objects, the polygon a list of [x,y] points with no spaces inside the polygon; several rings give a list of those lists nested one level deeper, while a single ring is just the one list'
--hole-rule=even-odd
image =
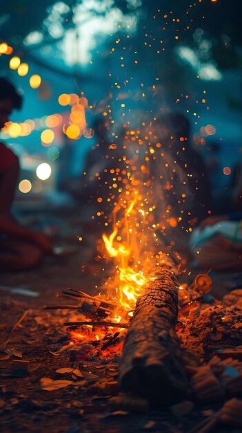
[{"label": "thick log with cracked bark, burning at its far end", "polygon": [[154,277],[137,300],[123,345],[119,384],[121,391],[170,403],[185,396],[188,382],[175,333],[177,267],[168,255],[162,256]]}]

